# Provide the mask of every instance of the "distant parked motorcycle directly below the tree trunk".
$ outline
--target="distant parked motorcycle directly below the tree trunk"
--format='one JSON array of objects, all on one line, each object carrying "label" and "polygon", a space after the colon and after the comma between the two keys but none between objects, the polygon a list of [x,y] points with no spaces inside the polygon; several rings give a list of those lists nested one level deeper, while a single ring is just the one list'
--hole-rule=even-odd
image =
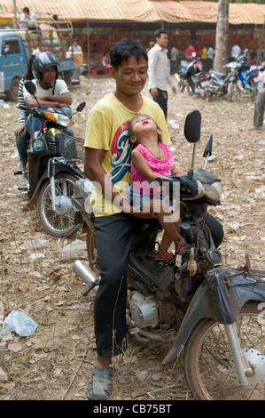
[{"label": "distant parked motorcycle directly below the tree trunk", "polygon": [[208,73],[209,81],[209,97],[213,95],[228,96],[230,101],[234,100],[237,94],[237,82],[238,82],[238,62],[232,61],[222,66],[226,68],[228,72],[222,73],[210,69]]}]

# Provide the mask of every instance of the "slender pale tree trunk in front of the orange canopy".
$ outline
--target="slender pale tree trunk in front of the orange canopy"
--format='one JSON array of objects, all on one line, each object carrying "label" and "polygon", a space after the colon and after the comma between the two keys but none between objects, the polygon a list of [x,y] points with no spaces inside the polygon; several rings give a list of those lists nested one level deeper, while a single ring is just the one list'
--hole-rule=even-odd
[{"label": "slender pale tree trunk in front of the orange canopy", "polygon": [[[229,0],[219,0],[216,25],[214,70],[222,71],[222,65],[228,62],[229,44]],[[224,60],[222,60],[224,59]]]}]

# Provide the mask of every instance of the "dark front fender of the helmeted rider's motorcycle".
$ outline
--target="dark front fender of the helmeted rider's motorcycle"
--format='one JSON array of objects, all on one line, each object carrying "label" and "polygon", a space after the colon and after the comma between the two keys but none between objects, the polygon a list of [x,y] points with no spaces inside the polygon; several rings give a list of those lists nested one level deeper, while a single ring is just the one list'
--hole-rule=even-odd
[{"label": "dark front fender of the helmeted rider's motorcycle", "polygon": [[[58,173],[69,173],[69,174],[73,174],[75,177],[78,177],[80,179],[85,179],[86,178],[84,173],[82,173],[82,170],[80,170],[80,168],[78,168],[76,165],[73,165],[69,161],[56,162],[54,164],[54,172],[53,173],[54,173],[54,175],[57,175]],[[49,165],[47,165],[46,169],[44,170],[44,172],[43,172],[43,174],[40,178],[40,180],[38,181],[38,184],[36,185],[35,192],[34,192],[33,196],[31,197],[31,199],[29,200],[29,202],[25,206],[27,209],[31,210],[35,207],[35,205],[37,204],[39,191],[40,191],[40,189],[43,185],[43,182],[46,181],[47,179],[50,179],[50,177],[51,177],[51,173],[49,173]]]}]

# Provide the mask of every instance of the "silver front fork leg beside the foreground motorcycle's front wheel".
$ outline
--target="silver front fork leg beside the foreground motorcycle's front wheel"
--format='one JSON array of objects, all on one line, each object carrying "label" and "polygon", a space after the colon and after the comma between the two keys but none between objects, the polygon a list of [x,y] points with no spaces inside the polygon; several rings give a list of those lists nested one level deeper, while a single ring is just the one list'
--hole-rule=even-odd
[{"label": "silver front fork leg beside the foreground motorcycle's front wheel", "polygon": [[234,359],[236,369],[238,372],[238,379],[241,382],[242,386],[249,386],[247,378],[253,375],[253,370],[246,361],[245,354],[241,349],[240,341],[238,338],[237,326],[235,323],[233,323],[230,325],[225,325],[224,327],[226,330],[228,341],[230,343],[232,357]]}]

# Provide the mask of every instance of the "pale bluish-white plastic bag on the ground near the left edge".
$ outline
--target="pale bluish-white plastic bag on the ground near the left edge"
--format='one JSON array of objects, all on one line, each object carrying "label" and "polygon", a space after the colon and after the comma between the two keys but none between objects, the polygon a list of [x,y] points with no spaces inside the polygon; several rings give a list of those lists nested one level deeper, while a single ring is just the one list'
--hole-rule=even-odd
[{"label": "pale bluish-white plastic bag on the ground near the left edge", "polygon": [[15,331],[20,337],[28,337],[35,333],[37,326],[35,321],[32,318],[27,317],[23,312],[12,310],[4,320],[1,334],[4,335]]}]

